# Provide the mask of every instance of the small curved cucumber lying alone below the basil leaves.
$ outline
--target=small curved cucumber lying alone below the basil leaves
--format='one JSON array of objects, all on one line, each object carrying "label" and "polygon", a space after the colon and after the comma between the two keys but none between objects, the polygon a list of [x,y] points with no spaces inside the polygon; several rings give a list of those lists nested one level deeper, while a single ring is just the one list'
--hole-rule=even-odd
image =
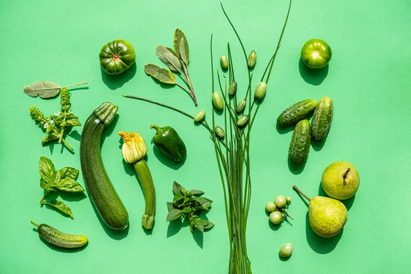
[{"label": "small curved cucumber lying alone below the basil leaves", "polygon": [[46,242],[49,242],[49,244],[55,245],[56,247],[75,249],[86,245],[86,243],[88,242],[87,237],[84,235],[65,234],[44,223],[40,225],[34,223],[33,221],[30,221],[30,223],[37,227],[37,232],[41,236],[41,238],[45,239]]}]

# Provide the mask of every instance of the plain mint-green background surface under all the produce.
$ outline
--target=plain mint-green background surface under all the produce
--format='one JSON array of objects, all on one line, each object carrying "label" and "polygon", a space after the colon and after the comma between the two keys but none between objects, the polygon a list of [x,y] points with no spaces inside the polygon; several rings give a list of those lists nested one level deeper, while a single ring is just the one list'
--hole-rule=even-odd
[{"label": "plain mint-green background surface under all the produce", "polygon": [[[224,1],[246,51],[258,54],[256,85],[273,53],[288,1]],[[247,244],[253,273],[408,273],[411,269],[410,219],[410,1],[301,1],[292,4],[286,32],[273,66],[266,99],[251,137],[252,197]],[[162,101],[190,114],[206,110],[211,117],[210,34],[214,64],[232,45],[240,94],[247,69],[238,40],[219,1],[2,1],[0,4],[0,273],[227,273],[229,242],[223,190],[208,132],[190,119],[121,95]],[[190,75],[199,105],[181,89],[160,86],[143,65],[160,64],[155,46],[171,47],[181,28],[190,46]],[[134,45],[136,65],[110,77],[101,71],[98,53],[110,40]],[[321,71],[299,62],[306,40],[321,38],[332,47],[332,61]],[[61,145],[42,147],[42,132],[29,116],[36,105],[45,114],[59,110],[60,99],[27,97],[23,86],[40,80],[61,85],[88,82],[71,89],[72,110],[84,123],[103,101],[119,105],[119,116],[103,134],[102,157],[108,175],[129,212],[129,229],[110,231],[96,216],[88,195],[64,195],[71,220],[38,204],[38,159],[44,155],[57,169],[80,168],[79,138],[73,129]],[[177,78],[181,82],[181,79]],[[303,99],[334,100],[334,121],[324,144],[312,144],[303,169],[288,166],[292,128],[277,129],[282,110]],[[171,125],[186,142],[184,164],[173,164],[153,150],[151,124]],[[148,146],[148,164],[157,192],[152,234],[140,226],[144,198],[131,166],[121,156],[119,131],[139,132]],[[310,197],[323,195],[321,175],[331,162],[353,163],[361,177],[357,195],[346,202],[349,219],[334,238],[319,238],[307,221],[307,206],[292,190],[296,184]],[[198,188],[214,201],[209,232],[165,222],[166,201],[177,181]],[[84,185],[81,171],[80,184]],[[292,197],[294,218],[280,227],[269,223],[267,201]],[[57,197],[51,195],[51,198]],[[29,221],[47,223],[63,232],[84,234],[80,251],[45,245]],[[289,260],[278,250],[292,242]]]}]

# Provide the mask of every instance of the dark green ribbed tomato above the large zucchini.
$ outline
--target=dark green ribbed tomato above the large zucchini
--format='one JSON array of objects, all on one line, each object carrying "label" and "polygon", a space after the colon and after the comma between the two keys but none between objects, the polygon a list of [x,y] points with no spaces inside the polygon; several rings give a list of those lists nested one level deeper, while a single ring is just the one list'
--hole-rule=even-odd
[{"label": "dark green ribbed tomato above the large zucchini", "polygon": [[132,44],[123,39],[103,45],[99,54],[100,66],[108,74],[119,74],[129,69],[136,60]]}]

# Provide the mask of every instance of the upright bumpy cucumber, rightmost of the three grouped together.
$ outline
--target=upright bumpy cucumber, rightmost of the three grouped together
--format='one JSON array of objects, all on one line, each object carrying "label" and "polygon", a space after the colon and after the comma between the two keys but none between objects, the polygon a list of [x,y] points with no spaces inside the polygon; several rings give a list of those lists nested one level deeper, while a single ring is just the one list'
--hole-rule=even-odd
[{"label": "upright bumpy cucumber, rightmost of the three grouped together", "polygon": [[333,115],[334,103],[332,102],[332,99],[329,97],[319,99],[314,110],[314,115],[312,115],[312,140],[321,142],[327,138]]}]

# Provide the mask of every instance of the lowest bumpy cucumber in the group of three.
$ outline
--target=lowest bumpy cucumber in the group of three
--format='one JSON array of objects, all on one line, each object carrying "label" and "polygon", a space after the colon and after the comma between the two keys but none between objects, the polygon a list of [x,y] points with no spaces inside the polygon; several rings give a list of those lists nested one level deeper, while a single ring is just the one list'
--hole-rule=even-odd
[{"label": "lowest bumpy cucumber in the group of three", "polygon": [[292,134],[288,158],[295,166],[301,166],[308,158],[310,153],[311,126],[308,120],[301,120],[295,125]]}]

